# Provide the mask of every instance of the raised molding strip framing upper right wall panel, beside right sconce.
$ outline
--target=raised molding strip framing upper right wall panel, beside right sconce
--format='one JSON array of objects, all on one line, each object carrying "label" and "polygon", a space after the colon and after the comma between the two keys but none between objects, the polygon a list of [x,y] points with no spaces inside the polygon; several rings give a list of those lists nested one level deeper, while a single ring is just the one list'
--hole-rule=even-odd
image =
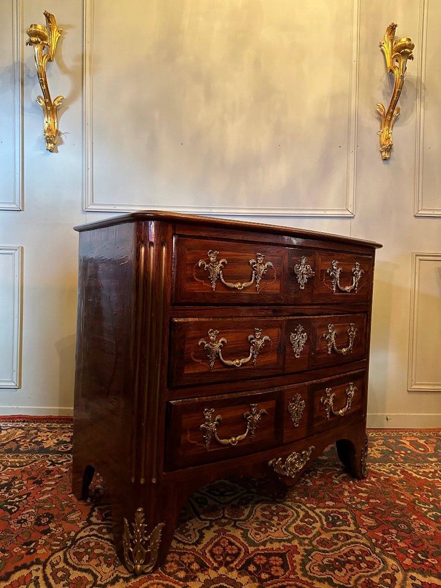
[{"label": "raised molding strip framing upper right wall panel, beside right sconce", "polygon": [[[415,216],[441,216],[441,201],[440,206],[434,205],[431,207],[423,202],[427,22],[429,19],[430,4],[431,0],[420,0],[419,58],[416,83]],[[435,72],[433,72],[433,74],[435,74]]]}]

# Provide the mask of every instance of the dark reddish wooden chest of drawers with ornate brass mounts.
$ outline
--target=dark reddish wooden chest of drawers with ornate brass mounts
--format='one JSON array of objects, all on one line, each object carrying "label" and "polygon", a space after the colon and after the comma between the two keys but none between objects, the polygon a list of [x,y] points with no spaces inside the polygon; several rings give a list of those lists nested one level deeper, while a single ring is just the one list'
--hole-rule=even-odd
[{"label": "dark reddish wooden chest of drawers with ornate brass mounts", "polygon": [[213,479],[294,483],[332,442],[366,475],[380,245],[160,212],[76,230],[73,489],[101,473],[130,571],[161,563]]}]

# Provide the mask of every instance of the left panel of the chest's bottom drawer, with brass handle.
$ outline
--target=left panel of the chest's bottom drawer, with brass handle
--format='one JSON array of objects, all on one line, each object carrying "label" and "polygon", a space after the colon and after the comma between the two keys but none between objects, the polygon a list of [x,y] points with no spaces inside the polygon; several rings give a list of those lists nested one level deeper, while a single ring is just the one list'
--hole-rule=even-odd
[{"label": "left panel of the chest's bottom drawer, with brass handle", "polygon": [[278,394],[168,402],[166,469],[229,459],[276,445]]}]

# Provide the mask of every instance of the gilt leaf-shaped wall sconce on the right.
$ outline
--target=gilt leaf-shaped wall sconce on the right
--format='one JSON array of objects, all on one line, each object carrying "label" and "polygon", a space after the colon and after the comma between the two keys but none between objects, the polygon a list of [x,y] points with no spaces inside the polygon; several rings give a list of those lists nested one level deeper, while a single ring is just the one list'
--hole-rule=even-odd
[{"label": "gilt leaf-shaped wall sconce on the right", "polygon": [[383,41],[380,41],[380,48],[386,60],[387,73],[393,74],[395,77],[392,98],[390,99],[387,111],[382,103],[377,103],[377,112],[381,117],[379,135],[380,152],[383,159],[390,158],[390,151],[392,151],[393,145],[392,126],[400,114],[400,107],[397,106],[397,102],[405,81],[407,59],[413,59],[412,51],[415,47],[412,39],[409,39],[409,37],[395,41],[396,27],[395,22],[392,22],[386,29],[385,38]]}]

